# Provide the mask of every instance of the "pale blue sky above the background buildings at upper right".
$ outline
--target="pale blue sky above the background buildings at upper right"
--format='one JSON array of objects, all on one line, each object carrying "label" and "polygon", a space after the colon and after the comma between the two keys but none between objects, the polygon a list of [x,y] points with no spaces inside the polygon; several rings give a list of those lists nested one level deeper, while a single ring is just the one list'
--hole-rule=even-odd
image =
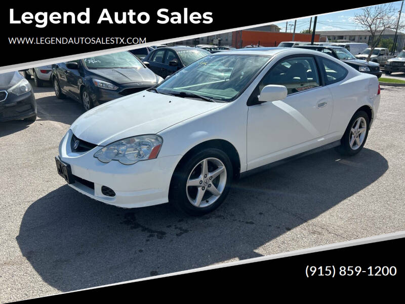
[{"label": "pale blue sky above the background buildings at upper right", "polygon": [[[396,8],[397,11],[401,8],[401,1],[393,2],[392,5]],[[401,21],[405,21],[405,4],[402,8],[401,13]],[[353,22],[353,17],[360,13],[360,9],[338,12],[338,13],[331,13],[327,15],[318,16],[317,23],[316,23],[316,31],[321,30],[355,30],[355,29],[362,29],[358,24]],[[297,19],[297,27],[296,32],[300,32],[303,29],[307,29],[309,27],[310,18],[304,19]],[[286,31],[286,23],[287,22],[275,22],[279,27],[281,27],[280,31]],[[287,31],[293,32],[294,30],[294,20],[290,20],[288,22]],[[290,24],[292,26],[290,26]],[[312,18],[312,26],[313,27],[313,18]],[[403,30],[402,30],[403,32]]]}]

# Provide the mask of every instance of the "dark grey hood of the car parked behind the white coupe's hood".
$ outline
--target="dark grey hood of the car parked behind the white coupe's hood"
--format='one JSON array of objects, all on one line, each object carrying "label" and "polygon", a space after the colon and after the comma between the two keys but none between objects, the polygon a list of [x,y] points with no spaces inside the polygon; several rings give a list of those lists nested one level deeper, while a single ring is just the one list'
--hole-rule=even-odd
[{"label": "dark grey hood of the car parked behind the white coupe's hood", "polygon": [[119,85],[134,82],[156,82],[156,75],[148,68],[103,68],[89,70]]}]

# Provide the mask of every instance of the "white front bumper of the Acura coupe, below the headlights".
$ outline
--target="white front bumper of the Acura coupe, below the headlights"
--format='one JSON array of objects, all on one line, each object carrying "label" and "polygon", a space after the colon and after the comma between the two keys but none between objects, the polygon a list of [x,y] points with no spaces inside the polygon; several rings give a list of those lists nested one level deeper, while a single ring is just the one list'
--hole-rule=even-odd
[{"label": "white front bumper of the Acura coupe, below the headlights", "polygon": [[[59,145],[60,160],[69,164],[72,174],[79,177],[69,186],[95,200],[124,208],[168,202],[170,181],[181,159],[180,155],[158,157],[129,166],[117,161],[104,164],[93,156],[100,146],[84,153],[72,152],[72,136],[73,133],[69,129]],[[80,182],[80,179],[84,181]],[[111,188],[115,196],[105,196],[101,190],[102,186]]]}]

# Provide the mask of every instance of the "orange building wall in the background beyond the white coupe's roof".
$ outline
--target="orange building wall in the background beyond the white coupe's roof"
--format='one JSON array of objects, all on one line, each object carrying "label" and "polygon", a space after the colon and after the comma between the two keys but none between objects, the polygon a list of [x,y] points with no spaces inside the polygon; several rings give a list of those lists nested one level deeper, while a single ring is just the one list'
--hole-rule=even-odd
[{"label": "orange building wall in the background beyond the white coupe's roof", "polygon": [[[275,44],[277,46],[280,42],[283,41],[292,41],[293,40],[293,33],[285,33],[285,32],[263,32],[263,31],[250,31],[250,30],[242,30],[241,33],[237,33],[237,39],[243,41],[242,47],[245,47],[250,44],[257,44],[260,41],[260,45],[267,46],[267,44]],[[315,34],[314,42],[319,42],[319,34]],[[312,34],[301,34],[295,33],[294,41],[307,41],[311,42]]]}]

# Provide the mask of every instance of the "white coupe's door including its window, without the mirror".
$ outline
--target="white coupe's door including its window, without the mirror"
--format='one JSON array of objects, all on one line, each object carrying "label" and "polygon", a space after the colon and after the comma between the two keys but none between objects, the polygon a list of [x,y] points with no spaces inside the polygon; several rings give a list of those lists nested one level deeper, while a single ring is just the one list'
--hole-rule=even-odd
[{"label": "white coupe's door including its window, without the mirror", "polygon": [[[333,111],[315,56],[288,56],[266,73],[248,100],[248,170],[323,144]],[[282,85],[284,100],[255,104],[266,85]]]}]

